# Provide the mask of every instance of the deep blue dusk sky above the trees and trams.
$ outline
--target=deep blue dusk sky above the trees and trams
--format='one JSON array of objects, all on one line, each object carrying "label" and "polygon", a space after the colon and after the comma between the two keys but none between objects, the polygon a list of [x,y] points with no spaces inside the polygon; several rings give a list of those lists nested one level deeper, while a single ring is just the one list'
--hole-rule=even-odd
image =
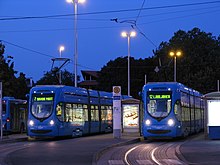
[{"label": "deep blue dusk sky above the trees and trams", "polygon": [[[37,81],[50,71],[51,58],[59,57],[63,45],[62,57],[71,59],[65,69],[74,72],[73,14],[66,0],[0,0],[4,56],[13,56],[15,70]],[[198,27],[216,37],[220,31],[220,1],[212,0],[86,0],[78,4],[78,14],[79,75],[127,56],[124,30],[137,32],[131,38],[136,59],[153,56],[152,50],[178,30]]]}]

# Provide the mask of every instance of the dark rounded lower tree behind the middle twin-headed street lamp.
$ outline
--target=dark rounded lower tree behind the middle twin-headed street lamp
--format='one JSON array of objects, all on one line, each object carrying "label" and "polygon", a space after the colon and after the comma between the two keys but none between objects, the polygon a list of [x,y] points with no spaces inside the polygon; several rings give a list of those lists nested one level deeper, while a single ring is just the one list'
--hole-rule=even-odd
[{"label": "dark rounded lower tree behind the middle twin-headed street lamp", "polygon": [[[113,86],[121,86],[122,94],[127,95],[127,65],[127,57],[119,57],[114,61],[109,61],[99,73],[99,78],[97,80],[99,83],[98,90],[111,92]],[[138,93],[144,85],[145,74],[154,68],[149,65],[146,59],[135,60],[133,57],[130,58],[130,65],[130,92],[132,96],[138,97]]]}]

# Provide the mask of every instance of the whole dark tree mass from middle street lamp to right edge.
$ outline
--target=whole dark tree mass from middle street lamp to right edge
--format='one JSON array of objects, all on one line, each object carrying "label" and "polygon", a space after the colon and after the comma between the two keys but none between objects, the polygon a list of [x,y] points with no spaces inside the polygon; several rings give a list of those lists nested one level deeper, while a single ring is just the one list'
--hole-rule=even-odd
[{"label": "whole dark tree mass from middle street lamp to right edge", "polygon": [[[202,93],[217,90],[220,79],[220,37],[205,33],[198,28],[185,32],[179,30],[168,42],[162,42],[154,55],[145,59],[131,58],[131,95],[138,97],[147,81],[173,81],[173,57],[169,51],[181,50],[177,57],[177,81]],[[159,70],[156,70],[158,67]],[[112,91],[112,86],[122,86],[122,93],[127,93],[127,57],[119,57],[104,66],[99,75],[99,89]]]}]

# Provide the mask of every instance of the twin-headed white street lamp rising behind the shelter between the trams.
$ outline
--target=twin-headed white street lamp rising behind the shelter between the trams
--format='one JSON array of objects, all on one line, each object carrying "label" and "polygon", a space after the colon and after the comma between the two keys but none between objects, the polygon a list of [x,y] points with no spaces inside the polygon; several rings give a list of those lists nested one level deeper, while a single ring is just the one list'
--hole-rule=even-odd
[{"label": "twin-headed white street lamp rising behind the shelter between the trams", "polygon": [[131,31],[130,33],[122,32],[122,37],[127,37],[128,39],[128,96],[130,96],[130,38],[136,36],[135,31]]}]

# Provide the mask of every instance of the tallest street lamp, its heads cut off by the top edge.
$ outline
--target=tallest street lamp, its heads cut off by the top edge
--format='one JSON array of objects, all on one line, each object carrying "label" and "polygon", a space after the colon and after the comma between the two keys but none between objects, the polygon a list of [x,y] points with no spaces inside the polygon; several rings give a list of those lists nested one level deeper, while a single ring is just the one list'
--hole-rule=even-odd
[{"label": "tallest street lamp, its heads cut off by the top edge", "polygon": [[68,3],[74,4],[74,40],[75,40],[75,50],[74,50],[74,70],[75,70],[75,87],[77,87],[77,59],[78,59],[78,34],[77,34],[77,6],[78,3],[84,3],[85,0],[66,0]]}]

